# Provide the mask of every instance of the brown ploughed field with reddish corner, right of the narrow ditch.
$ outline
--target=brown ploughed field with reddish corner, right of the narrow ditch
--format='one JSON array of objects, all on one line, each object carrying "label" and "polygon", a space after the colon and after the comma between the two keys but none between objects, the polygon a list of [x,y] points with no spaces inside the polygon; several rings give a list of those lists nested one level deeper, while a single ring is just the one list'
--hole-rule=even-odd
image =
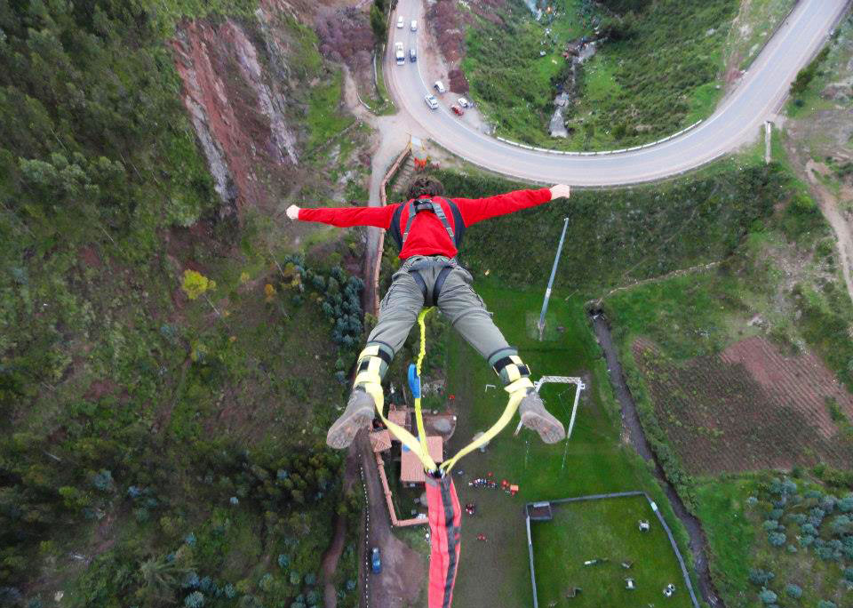
[{"label": "brown ploughed field with reddish corner, right of the narrow ditch", "polygon": [[768,340],[678,363],[636,340],[661,426],[691,473],[853,461],[853,396],[809,352],[786,356]]}]

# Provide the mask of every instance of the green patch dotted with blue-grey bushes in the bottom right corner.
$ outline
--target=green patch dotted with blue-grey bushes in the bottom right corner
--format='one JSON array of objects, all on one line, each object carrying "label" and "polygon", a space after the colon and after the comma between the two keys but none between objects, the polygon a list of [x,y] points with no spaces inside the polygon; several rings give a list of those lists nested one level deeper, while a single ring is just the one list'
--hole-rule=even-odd
[{"label": "green patch dotted with blue-grey bushes in the bottom right corner", "polygon": [[[727,606],[844,605],[853,587],[849,487],[758,473],[703,480],[697,487],[717,589]],[[772,594],[772,596],[770,595]]]}]

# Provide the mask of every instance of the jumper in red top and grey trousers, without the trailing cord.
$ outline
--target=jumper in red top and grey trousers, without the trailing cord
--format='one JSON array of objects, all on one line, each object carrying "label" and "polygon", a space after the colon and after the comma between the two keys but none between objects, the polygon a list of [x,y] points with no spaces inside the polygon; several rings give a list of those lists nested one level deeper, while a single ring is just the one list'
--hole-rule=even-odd
[{"label": "jumper in red top and grey trousers, without the trailing cord", "polygon": [[400,248],[403,266],[379,305],[379,319],[358,356],[355,383],[347,409],[331,425],[326,443],[343,449],[361,428],[369,428],[382,398],[382,378],[403,346],[421,308],[437,306],[450,324],[494,368],[506,392],[522,392],[518,406],[522,424],[554,444],[566,436],[560,420],[547,412],[522,363],[491,320],[482,298],[471,287],[473,277],[456,260],[467,227],[553,201],[568,198],[563,184],[537,190],[516,190],[485,198],[444,198],[444,187],[431,176],[411,182],[406,203],[384,207],[300,209],[291,204],[291,220],[319,221],[331,226],[384,228]]}]

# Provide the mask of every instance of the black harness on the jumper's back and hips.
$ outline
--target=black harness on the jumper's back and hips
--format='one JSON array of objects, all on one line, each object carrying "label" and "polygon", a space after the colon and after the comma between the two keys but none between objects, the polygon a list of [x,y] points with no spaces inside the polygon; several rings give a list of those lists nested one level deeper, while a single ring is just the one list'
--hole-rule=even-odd
[{"label": "black harness on the jumper's back and hips", "polygon": [[[444,213],[444,209],[440,203],[436,203],[430,198],[411,200],[408,204],[401,204],[396,208],[394,215],[391,216],[391,225],[388,227],[388,231],[391,233],[391,237],[394,238],[394,241],[400,251],[403,251],[403,245],[406,244],[406,239],[409,238],[411,222],[415,220],[415,216],[420,212],[434,213],[435,217],[442,222],[444,229],[447,230],[447,236],[450,236],[450,241],[453,243],[453,246],[457,249],[459,248],[459,244],[462,243],[462,236],[465,234],[465,222],[462,220],[462,213],[459,212],[458,206],[450,199],[441,198],[439,200],[447,203],[447,206],[450,208],[450,213],[453,215],[453,224],[456,230],[453,229],[454,227],[450,226],[450,221],[447,220],[447,215]],[[409,217],[406,220],[405,230],[401,230],[400,228],[400,219],[403,217],[403,207],[406,207],[409,210]],[[435,277],[435,283],[433,284],[432,289],[430,289],[426,284],[424,277],[419,273],[419,270],[435,266],[441,266],[442,270],[438,273],[438,276]],[[450,271],[453,268],[456,268],[456,266],[456,260],[419,260],[409,268],[409,274],[420,287],[420,291],[424,294],[424,306],[438,305],[438,296],[442,292],[444,280],[448,275],[450,275]]]}]

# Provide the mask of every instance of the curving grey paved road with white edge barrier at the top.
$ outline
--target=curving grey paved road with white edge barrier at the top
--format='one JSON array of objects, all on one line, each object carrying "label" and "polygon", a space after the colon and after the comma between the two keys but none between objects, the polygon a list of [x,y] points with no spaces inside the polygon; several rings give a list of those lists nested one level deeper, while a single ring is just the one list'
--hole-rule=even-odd
[{"label": "curving grey paved road with white edge barrier at the top", "polygon": [[[445,93],[440,108],[430,110],[424,102],[426,75],[420,62],[408,60],[409,48],[418,45],[425,27],[421,0],[400,0],[389,35],[385,75],[391,94],[404,112],[411,115],[428,137],[451,152],[492,171],[544,183],[576,186],[614,186],[659,180],[706,164],[759,134],[761,124],[780,107],[797,72],[825,43],[848,0],[801,0],[779,28],[736,89],[720,108],[697,128],[653,148],[608,156],[562,156],[535,152],[502,143],[474,131],[450,113],[456,96]],[[396,28],[402,15],[403,29]],[[409,22],[418,20],[418,32]],[[406,63],[395,65],[394,43],[403,42]],[[446,84],[446,82],[445,82]]]}]

